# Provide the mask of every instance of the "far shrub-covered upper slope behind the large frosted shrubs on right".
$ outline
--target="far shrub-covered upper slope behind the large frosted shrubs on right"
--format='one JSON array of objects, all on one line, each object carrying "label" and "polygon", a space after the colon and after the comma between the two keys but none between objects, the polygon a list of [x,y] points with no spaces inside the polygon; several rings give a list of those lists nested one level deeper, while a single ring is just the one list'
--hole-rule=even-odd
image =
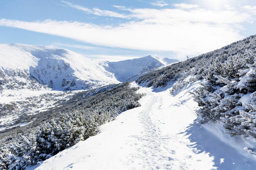
[{"label": "far shrub-covered upper slope behind the large frosted shrubs on right", "polygon": [[[166,86],[171,80],[178,78],[185,79],[188,75],[195,75],[196,80],[203,79],[205,70],[217,59],[225,61],[230,56],[243,54],[246,50],[256,49],[256,35],[247,37],[246,39],[233,42],[220,49],[201,54],[200,56],[189,58],[186,61],[174,63],[163,69],[154,70],[150,74],[146,74],[138,78],[136,81],[146,83],[148,87]],[[183,73],[187,73],[183,75]]]}]

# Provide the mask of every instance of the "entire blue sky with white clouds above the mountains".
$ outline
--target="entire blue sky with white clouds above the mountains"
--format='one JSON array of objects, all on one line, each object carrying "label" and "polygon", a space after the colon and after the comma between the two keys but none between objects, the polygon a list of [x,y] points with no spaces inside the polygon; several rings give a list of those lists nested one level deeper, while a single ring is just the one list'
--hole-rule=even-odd
[{"label": "entire blue sky with white clouds above the mountains", "polygon": [[118,61],[183,60],[256,34],[256,1],[1,0],[0,44],[66,48]]}]

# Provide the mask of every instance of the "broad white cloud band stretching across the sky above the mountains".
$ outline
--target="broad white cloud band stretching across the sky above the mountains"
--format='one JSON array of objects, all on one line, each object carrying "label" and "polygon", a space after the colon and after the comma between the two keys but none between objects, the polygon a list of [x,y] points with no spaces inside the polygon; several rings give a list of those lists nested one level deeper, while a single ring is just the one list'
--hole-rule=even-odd
[{"label": "broad white cloud band stretching across the sky above the mountains", "polygon": [[[44,20],[23,22],[1,19],[0,25],[68,37],[113,48],[174,52],[193,56],[242,39],[241,23],[249,22],[246,12],[211,11],[202,8],[125,8],[129,18],[118,26]],[[122,17],[121,17],[122,18]]]}]

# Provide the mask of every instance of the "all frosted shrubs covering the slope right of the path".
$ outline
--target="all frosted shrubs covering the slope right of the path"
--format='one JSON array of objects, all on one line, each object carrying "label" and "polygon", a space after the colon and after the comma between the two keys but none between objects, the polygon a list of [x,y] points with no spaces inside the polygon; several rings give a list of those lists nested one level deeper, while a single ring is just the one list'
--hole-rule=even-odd
[{"label": "all frosted shrubs covering the slope right of the path", "polygon": [[[256,141],[256,36],[234,42],[213,52],[175,63],[136,82],[147,87],[176,83],[171,94],[187,84],[201,80],[193,93],[200,109],[201,123],[222,121],[226,133],[243,135]],[[250,151],[249,151],[250,152]]]}]

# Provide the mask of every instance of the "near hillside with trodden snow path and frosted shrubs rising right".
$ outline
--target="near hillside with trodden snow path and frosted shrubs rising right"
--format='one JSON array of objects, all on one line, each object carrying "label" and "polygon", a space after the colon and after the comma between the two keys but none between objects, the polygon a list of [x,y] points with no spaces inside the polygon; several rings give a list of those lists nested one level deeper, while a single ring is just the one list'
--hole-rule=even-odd
[{"label": "near hillside with trodden snow path and frosted shrubs rising right", "polygon": [[255,169],[255,42],[251,36],[141,76],[141,108],[38,169]]}]

